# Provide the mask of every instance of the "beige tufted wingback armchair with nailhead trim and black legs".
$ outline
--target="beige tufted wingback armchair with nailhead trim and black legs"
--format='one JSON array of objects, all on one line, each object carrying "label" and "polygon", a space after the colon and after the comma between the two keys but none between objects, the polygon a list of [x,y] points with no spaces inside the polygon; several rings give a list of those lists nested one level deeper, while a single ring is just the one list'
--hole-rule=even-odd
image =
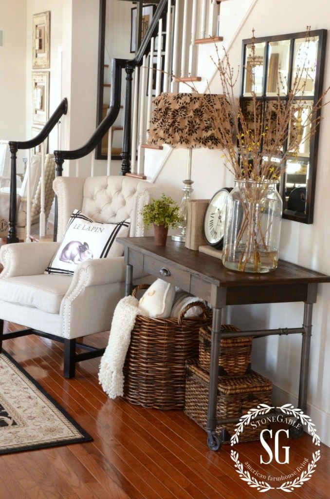
[{"label": "beige tufted wingback armchair with nailhead trim and black legs", "polygon": [[[99,356],[101,349],[76,343],[76,338],[110,329],[114,308],[124,296],[124,257],[87,260],[74,275],[44,274],[59,247],[73,210],[97,222],[131,220],[130,236],[144,236],[141,210],[163,189],[132,177],[59,177],[56,243],[18,243],[2,246],[0,261],[0,343],[3,320],[30,328],[28,333],[64,342],[64,376],[75,375],[75,362]],[[168,190],[167,190],[168,191]],[[26,334],[25,331],[22,334]],[[87,352],[76,354],[76,346]]]}]

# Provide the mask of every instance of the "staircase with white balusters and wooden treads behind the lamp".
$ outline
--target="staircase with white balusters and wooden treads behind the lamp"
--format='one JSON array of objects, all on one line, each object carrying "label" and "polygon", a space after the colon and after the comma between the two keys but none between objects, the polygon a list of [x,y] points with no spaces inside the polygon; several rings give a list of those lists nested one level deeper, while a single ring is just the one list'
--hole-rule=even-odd
[{"label": "staircase with white balusters and wooden treads behind the lamp", "polygon": [[[191,85],[200,93],[207,92],[208,85],[212,85],[212,91],[220,93],[219,85],[214,83],[217,71],[211,56],[217,57],[216,46],[220,56],[223,47],[230,49],[257,1],[167,0],[158,29],[150,38],[150,50],[144,54],[141,66],[135,69],[130,171],[122,170],[123,173],[156,182],[161,172],[164,175],[166,165],[170,167],[177,161],[179,150],[147,144],[153,97],[161,92],[191,92]],[[162,43],[158,43],[159,39]],[[109,146],[112,148],[112,157],[108,155],[108,173],[111,173],[112,161],[118,159],[114,154],[121,153],[115,142],[121,137],[114,134],[114,131],[123,132],[118,123],[122,123],[122,116],[120,121],[116,120],[110,140],[107,136],[102,142],[103,153],[110,150]]]}]

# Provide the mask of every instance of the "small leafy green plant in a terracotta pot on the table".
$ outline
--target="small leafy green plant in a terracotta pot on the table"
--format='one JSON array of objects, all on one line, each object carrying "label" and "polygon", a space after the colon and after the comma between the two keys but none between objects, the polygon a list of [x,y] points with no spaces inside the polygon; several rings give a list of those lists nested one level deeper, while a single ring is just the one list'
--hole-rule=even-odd
[{"label": "small leafy green plant in a terracotta pot on the table", "polygon": [[142,210],[146,229],[153,226],[156,246],[165,246],[168,229],[175,229],[180,223],[179,206],[162,194],[160,199],[152,199]]}]

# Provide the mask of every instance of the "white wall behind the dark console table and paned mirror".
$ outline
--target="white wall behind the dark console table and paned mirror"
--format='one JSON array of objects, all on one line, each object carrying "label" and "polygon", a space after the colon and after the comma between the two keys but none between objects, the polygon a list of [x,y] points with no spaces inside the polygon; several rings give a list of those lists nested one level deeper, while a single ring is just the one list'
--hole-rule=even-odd
[{"label": "white wall behind the dark console table and paned mirror", "polygon": [[[251,4],[245,1],[245,5]],[[231,0],[221,6],[222,13],[231,11],[231,20],[237,21],[243,0]],[[236,14],[235,14],[236,11]],[[285,15],[283,13],[285,12]],[[236,18],[235,18],[236,15]],[[259,0],[240,29],[230,49],[231,64],[241,62],[242,39],[251,37],[254,27],[256,36],[267,36],[304,31],[306,25],[312,29],[330,29],[330,2],[315,0],[310,8],[308,0]],[[222,23],[225,26],[224,44],[232,37],[235,22]],[[228,26],[228,27],[227,27]],[[213,69],[205,50],[202,50],[202,65],[199,76],[210,78]],[[205,80],[204,80],[205,85]],[[330,85],[330,39],[328,37],[324,87]],[[211,83],[212,92],[221,92],[217,77]],[[239,88],[236,89],[237,96]],[[330,96],[328,96],[329,100]],[[304,225],[284,220],[281,234],[281,258],[330,274],[330,108],[323,110],[324,121],[320,130],[318,175],[314,224]],[[185,152],[176,150],[170,156],[157,182],[178,186],[185,175]],[[219,188],[230,186],[233,179],[225,171],[220,154],[216,151],[193,151],[192,178],[194,197],[209,198]],[[313,337],[311,349],[310,383],[308,391],[309,412],[317,425],[323,442],[330,446],[330,284],[320,285],[318,302],[313,314]],[[233,307],[228,310],[227,320],[244,328],[300,327],[303,320],[303,304],[271,304]],[[253,367],[274,382],[276,402],[297,404],[300,369],[301,336],[268,337],[254,341]]]}]

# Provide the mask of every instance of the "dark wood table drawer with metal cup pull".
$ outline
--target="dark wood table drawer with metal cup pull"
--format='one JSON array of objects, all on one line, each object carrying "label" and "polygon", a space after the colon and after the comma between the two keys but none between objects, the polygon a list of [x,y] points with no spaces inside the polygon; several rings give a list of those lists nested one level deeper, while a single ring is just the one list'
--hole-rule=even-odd
[{"label": "dark wood table drawer with metal cup pull", "polygon": [[144,257],[143,269],[145,272],[155,275],[155,277],[159,277],[160,279],[164,279],[185,291],[190,290],[189,272],[168,265],[167,263],[148,255],[145,255]]}]

